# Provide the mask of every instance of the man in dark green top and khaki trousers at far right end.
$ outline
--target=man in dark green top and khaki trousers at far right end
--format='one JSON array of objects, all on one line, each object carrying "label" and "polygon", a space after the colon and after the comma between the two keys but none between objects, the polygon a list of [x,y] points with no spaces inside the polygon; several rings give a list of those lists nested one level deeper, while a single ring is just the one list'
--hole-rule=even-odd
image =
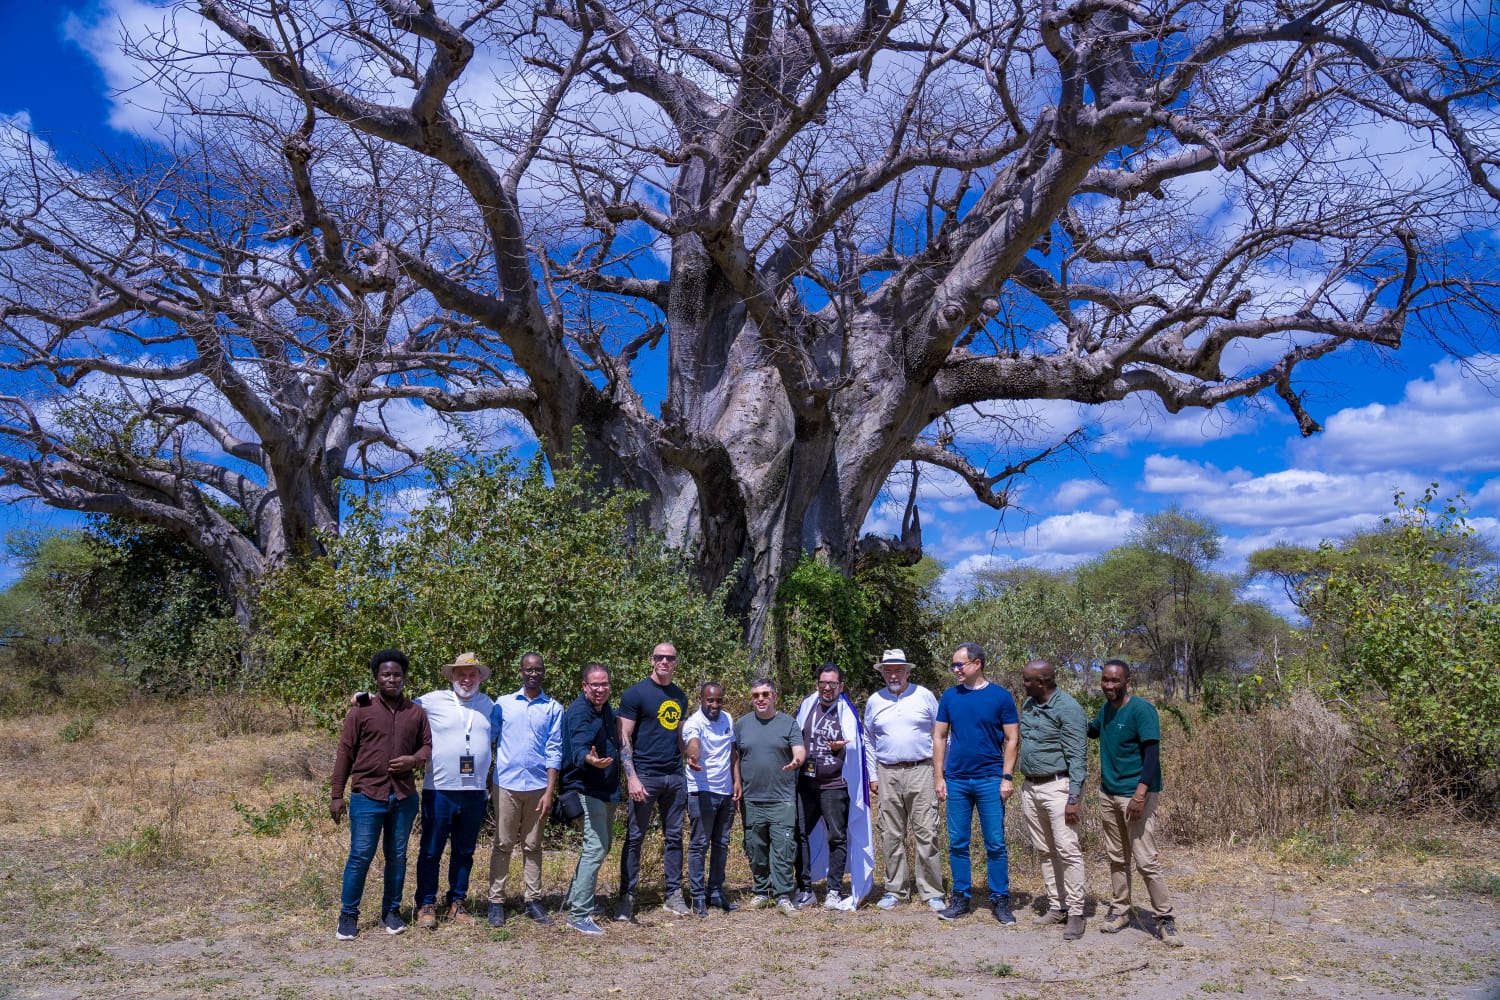
[{"label": "man in dark green top and khaki trousers at far right end", "polygon": [[1113,934],[1130,927],[1130,868],[1134,861],[1155,910],[1156,934],[1167,946],[1180,948],[1172,898],[1156,856],[1161,720],[1150,702],[1130,693],[1130,664],[1124,660],[1104,663],[1100,687],[1104,688],[1106,703],[1089,724],[1089,738],[1100,741],[1100,819],[1113,894],[1100,930]]}]

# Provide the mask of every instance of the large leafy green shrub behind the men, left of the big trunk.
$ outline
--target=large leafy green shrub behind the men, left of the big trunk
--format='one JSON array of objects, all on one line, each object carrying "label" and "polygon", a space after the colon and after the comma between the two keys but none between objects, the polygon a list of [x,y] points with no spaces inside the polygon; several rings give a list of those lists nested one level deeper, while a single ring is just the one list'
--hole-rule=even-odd
[{"label": "large leafy green shrub behind the men, left of the big trunk", "polygon": [[704,595],[680,553],[633,531],[638,495],[597,492],[580,462],[549,483],[540,457],[440,456],[429,478],[428,501],[405,516],[351,499],[327,558],[264,582],[255,643],[274,693],[340,717],[369,684],[369,655],[398,646],[414,693],[446,685],[441,664],[464,651],[494,666],[490,688],[507,690],[536,651],[566,702],[585,663],[610,666],[624,688],[663,640],[682,657],[684,688],[708,678],[744,687],[748,657],[724,594]]}]

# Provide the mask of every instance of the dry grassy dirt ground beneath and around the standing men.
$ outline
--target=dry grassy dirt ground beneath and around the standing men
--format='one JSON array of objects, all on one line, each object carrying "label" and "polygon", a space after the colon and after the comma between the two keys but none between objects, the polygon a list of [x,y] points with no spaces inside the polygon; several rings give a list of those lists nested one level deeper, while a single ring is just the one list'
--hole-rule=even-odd
[{"label": "dry grassy dirt ground beneath and around the standing men", "polygon": [[[646,897],[603,939],[514,918],[390,937],[368,906],[360,937],[336,942],[346,831],[316,814],[330,739],[230,735],[212,708],[136,708],[68,742],[74,721],[10,720],[0,735],[0,997],[1500,997],[1500,898],[1462,888],[1492,885],[1500,847],[1462,826],[1336,867],[1168,849],[1174,951],[1142,928],[1100,934],[1092,907],[1080,942],[1030,925],[1041,882],[1017,837],[1012,928],[987,912],[945,925],[924,906],[675,918]],[[252,832],[280,813],[278,835]],[[549,853],[552,907],[573,858]],[[488,840],[476,888],[486,871]],[[658,861],[645,885],[660,885]],[[1090,891],[1107,885],[1094,852]],[[368,904],[378,891],[372,873]]]}]

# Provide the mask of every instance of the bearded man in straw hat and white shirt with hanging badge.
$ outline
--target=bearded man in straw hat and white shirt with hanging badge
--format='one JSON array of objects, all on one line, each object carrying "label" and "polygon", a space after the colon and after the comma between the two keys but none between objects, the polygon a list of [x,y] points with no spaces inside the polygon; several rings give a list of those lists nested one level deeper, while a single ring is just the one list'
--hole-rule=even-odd
[{"label": "bearded man in straw hat and white shirt with hanging badge", "polygon": [[438,927],[438,865],[442,849],[448,853],[448,892],[444,901],[448,919],[472,924],[464,900],[468,898],[474,846],[484,825],[489,775],[490,709],[495,706],[478,685],[489,679],[489,667],[472,652],[460,652],[442,667],[450,688],[429,691],[417,699],[432,727],[432,766],[422,780],[422,844],[417,850],[417,927]]}]

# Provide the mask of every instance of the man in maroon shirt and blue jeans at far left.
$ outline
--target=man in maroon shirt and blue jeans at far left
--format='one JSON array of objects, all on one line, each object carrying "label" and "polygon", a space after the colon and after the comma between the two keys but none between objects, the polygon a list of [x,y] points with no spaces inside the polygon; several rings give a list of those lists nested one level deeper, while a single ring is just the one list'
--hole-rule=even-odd
[{"label": "man in maroon shirt and blue jeans at far left", "polygon": [[400,934],[400,891],[406,880],[406,841],[417,817],[417,786],[412,772],[432,759],[432,732],[428,714],[405,697],[406,654],[381,649],[370,657],[370,673],[380,697],[356,705],[344,717],[339,756],[333,763],[328,816],[338,823],[344,816],[344,786],[350,795],[350,861],[344,865],[344,894],[339,907],[340,942],[360,933],[360,900],[364,876],[375,861],[375,844],[386,855],[386,889],[381,894],[381,927]]}]

